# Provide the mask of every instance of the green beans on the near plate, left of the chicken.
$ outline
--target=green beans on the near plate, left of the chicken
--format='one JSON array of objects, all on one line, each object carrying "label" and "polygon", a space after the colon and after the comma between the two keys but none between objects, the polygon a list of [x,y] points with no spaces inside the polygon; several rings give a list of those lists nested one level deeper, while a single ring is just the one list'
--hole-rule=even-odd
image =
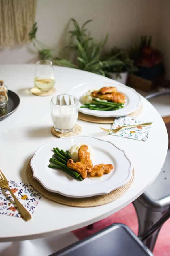
[{"label": "green beans on the near plate, left of the chicken", "polygon": [[59,150],[59,148],[53,148],[54,150],[54,158],[50,158],[49,161],[53,164],[49,164],[48,167],[59,169],[71,177],[82,181],[82,177],[80,174],[75,172],[74,170],[67,167],[67,161],[71,159],[71,155],[69,151],[64,151],[63,149]]}]

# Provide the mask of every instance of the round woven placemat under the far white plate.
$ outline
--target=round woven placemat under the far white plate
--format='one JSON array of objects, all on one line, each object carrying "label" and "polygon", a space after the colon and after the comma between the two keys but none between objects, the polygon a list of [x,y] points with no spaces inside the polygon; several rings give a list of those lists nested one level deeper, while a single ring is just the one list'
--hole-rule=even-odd
[{"label": "round woven placemat under the far white plate", "polygon": [[[135,110],[133,113],[129,114],[132,117],[137,117],[142,112],[143,106],[139,107],[139,109]],[[91,122],[91,123],[114,123],[116,117],[97,117],[93,115],[85,115],[81,112],[78,113],[78,119],[83,121]]]}]

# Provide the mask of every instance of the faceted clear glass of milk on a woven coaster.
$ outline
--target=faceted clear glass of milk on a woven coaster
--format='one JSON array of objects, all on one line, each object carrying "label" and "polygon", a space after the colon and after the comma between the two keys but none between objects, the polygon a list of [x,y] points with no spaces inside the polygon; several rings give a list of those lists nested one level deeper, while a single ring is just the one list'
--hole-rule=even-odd
[{"label": "faceted clear glass of milk on a woven coaster", "polygon": [[54,96],[51,99],[51,116],[56,131],[72,131],[78,119],[78,99],[68,94]]}]

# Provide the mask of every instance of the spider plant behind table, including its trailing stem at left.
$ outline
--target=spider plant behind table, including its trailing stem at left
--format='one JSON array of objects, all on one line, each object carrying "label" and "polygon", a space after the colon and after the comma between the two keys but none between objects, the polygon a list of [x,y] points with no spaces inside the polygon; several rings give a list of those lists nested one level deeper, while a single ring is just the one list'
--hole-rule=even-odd
[{"label": "spider plant behind table, including its trailing stem at left", "polygon": [[74,29],[69,31],[72,40],[67,48],[75,51],[76,61],[73,63],[69,59],[52,58],[52,51],[48,48],[43,49],[43,45],[36,39],[37,23],[35,23],[29,36],[33,45],[38,49],[41,59],[52,58],[52,62],[55,65],[82,69],[103,76],[105,76],[105,68],[116,65],[116,63],[122,63],[122,61],[115,57],[101,57],[101,52],[107,42],[108,34],[106,34],[104,40],[96,43],[94,38],[90,36],[90,32],[85,28],[86,24],[92,20],[87,20],[82,26],[73,18],[71,21],[73,22]]}]

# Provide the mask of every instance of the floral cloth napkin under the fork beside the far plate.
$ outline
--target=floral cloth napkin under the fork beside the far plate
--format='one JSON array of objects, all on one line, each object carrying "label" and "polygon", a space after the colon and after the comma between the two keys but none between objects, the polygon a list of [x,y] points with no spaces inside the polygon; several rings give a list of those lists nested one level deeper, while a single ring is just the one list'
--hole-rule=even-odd
[{"label": "floral cloth napkin under the fork beside the far plate", "polygon": [[138,121],[135,118],[126,115],[122,117],[117,117],[112,124],[111,129],[116,129],[118,127],[124,125],[136,125],[139,124],[138,127],[127,127],[121,129],[118,133],[110,133],[111,135],[125,137],[129,139],[135,139],[139,141],[146,141],[148,139],[149,133],[151,131],[151,125],[149,126],[140,126],[141,123],[146,123],[146,121]]}]

